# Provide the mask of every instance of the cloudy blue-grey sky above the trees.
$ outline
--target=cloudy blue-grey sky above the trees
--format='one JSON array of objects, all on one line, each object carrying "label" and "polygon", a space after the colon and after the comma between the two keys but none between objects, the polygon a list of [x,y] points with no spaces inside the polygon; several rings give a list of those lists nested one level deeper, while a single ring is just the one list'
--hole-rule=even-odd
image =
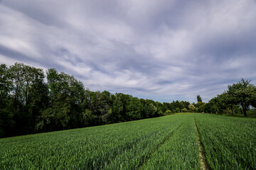
[{"label": "cloudy blue-grey sky above the trees", "polygon": [[256,84],[256,1],[0,0],[0,64],[15,62],[92,91],[207,102]]}]

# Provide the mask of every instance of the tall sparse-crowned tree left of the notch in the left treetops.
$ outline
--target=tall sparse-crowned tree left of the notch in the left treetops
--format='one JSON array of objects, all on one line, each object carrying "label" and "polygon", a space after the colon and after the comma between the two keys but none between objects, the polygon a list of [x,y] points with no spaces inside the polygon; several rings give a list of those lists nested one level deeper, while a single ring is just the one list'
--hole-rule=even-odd
[{"label": "tall sparse-crowned tree left of the notch in the left treetops", "polygon": [[[23,63],[15,63],[9,68],[9,75],[12,84],[14,84],[15,135],[34,132],[36,116],[41,110],[35,110],[34,108],[37,107],[36,104],[39,104],[38,97],[41,96],[41,93],[48,91],[46,88],[42,91],[42,86],[38,86],[38,84],[44,84],[43,69],[37,69]],[[35,96],[35,94],[38,94],[38,96]]]}]

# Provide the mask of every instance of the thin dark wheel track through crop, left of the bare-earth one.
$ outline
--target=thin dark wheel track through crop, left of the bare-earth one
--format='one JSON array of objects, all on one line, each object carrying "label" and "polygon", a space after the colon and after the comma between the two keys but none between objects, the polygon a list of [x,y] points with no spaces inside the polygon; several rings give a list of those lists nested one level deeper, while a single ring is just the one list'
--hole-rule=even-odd
[{"label": "thin dark wheel track through crop, left of the bare-earth one", "polygon": [[150,152],[149,154],[146,154],[145,157],[142,157],[140,163],[138,166],[134,167],[134,169],[142,169],[142,165],[150,159],[150,157],[154,154],[154,152],[156,152],[156,150],[159,149],[159,147],[161,147],[162,145],[164,145],[164,143],[170,139],[170,137],[172,135],[174,135],[174,132],[176,132],[179,128],[181,128],[181,126],[183,125],[183,123],[181,123],[181,125],[178,126],[178,128],[176,128],[176,130],[172,131],[171,133],[169,133],[169,135],[167,135],[164,140],[162,142],[159,143],[159,145],[157,145],[152,152]]}]

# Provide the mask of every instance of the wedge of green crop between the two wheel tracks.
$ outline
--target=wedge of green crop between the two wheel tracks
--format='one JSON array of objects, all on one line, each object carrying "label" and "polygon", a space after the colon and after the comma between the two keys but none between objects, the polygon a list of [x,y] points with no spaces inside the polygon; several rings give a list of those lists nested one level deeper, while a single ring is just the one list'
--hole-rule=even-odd
[{"label": "wedge of green crop between the two wheel tracks", "polygon": [[142,169],[200,169],[194,115],[144,164]]}]

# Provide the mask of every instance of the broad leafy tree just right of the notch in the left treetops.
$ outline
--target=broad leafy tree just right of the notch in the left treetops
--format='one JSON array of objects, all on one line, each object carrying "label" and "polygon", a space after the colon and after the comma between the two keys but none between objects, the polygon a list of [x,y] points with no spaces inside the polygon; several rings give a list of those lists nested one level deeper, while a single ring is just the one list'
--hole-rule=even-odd
[{"label": "broad leafy tree just right of the notch in the left treetops", "polygon": [[48,69],[49,106],[42,112],[37,125],[38,129],[60,130],[76,127],[82,113],[84,87],[82,82],[56,69]]}]

